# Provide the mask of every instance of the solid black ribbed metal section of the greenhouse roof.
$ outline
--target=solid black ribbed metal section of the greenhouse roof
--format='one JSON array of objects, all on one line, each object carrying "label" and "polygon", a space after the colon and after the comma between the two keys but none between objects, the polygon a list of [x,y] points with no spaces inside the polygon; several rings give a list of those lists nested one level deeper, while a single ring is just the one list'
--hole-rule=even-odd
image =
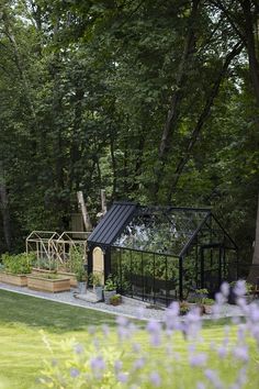
[{"label": "solid black ribbed metal section of the greenhouse roof", "polygon": [[137,204],[132,202],[115,202],[88,237],[88,244],[111,245],[130,222]]}]

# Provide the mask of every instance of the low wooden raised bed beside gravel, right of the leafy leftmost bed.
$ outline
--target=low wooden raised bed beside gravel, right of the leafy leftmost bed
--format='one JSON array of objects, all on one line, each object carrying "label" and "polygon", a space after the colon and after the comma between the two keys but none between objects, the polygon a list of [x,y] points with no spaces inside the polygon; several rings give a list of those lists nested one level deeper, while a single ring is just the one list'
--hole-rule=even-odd
[{"label": "low wooden raised bed beside gravel, right of the leafy leftmost bed", "polygon": [[27,276],[27,287],[29,289],[52,293],[61,292],[70,290],[70,278],[54,277],[54,275],[30,275]]}]

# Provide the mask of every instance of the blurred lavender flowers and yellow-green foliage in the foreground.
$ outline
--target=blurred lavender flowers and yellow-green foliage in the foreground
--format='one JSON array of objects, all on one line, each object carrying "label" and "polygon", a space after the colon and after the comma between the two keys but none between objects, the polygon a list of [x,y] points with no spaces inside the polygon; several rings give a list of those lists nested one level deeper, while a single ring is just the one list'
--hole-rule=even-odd
[{"label": "blurred lavender flowers and yellow-green foliage in the foreground", "polygon": [[245,282],[238,281],[240,318],[229,319],[225,327],[217,319],[227,309],[227,284],[215,297],[215,324],[204,329],[207,321],[198,307],[180,316],[173,302],[162,322],[142,321],[138,327],[117,318],[116,331],[105,325],[90,331],[83,346],[65,340],[63,359],[46,363],[40,381],[43,387],[71,389],[259,388],[259,304],[247,304],[245,293]]}]

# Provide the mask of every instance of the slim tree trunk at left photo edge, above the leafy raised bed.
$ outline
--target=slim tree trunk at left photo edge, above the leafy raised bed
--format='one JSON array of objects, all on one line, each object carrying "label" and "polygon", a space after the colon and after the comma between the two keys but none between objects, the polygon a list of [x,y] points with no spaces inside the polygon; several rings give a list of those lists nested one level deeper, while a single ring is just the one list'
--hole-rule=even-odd
[{"label": "slim tree trunk at left photo edge, above the leafy raised bed", "polygon": [[3,167],[1,162],[0,162],[0,208],[2,213],[2,226],[3,226],[4,241],[5,241],[7,248],[10,252],[11,249],[10,213],[8,207],[7,186],[5,186]]}]

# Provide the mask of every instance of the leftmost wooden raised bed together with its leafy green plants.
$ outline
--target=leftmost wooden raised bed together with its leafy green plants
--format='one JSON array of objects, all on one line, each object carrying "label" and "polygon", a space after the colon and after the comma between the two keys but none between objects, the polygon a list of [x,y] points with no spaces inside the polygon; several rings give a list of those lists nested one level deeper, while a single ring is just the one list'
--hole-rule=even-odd
[{"label": "leftmost wooden raised bed together with its leafy green plants", "polygon": [[27,274],[32,270],[32,264],[35,260],[33,254],[2,255],[2,269],[0,281],[19,287],[27,286]]}]

